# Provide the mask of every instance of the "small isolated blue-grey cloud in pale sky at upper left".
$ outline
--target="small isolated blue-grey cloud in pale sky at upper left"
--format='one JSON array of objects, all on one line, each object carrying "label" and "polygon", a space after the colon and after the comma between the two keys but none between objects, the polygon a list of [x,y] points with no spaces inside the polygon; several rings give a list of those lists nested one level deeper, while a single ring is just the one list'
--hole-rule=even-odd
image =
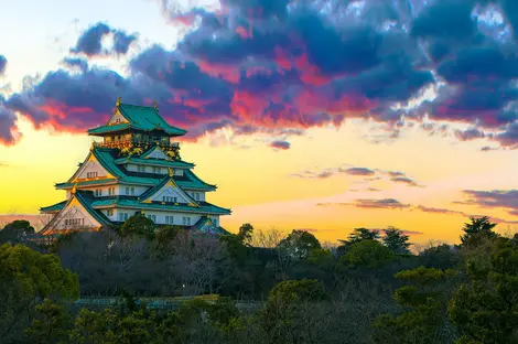
[{"label": "small isolated blue-grey cloud in pale sky at upper left", "polygon": [[123,31],[111,29],[107,24],[99,22],[83,32],[77,39],[75,47],[71,49],[71,53],[83,53],[88,57],[107,55],[111,51],[102,47],[102,39],[110,33],[114,35],[112,52],[117,54],[126,54],[131,43],[137,40],[136,34],[127,34]]}]

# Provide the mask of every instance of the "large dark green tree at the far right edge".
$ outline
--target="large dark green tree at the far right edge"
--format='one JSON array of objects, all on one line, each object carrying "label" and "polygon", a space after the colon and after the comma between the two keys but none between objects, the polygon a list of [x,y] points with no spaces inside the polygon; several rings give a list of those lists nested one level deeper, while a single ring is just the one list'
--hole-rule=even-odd
[{"label": "large dark green tree at the far right edge", "polygon": [[449,305],[460,343],[518,343],[518,246],[500,238],[489,260],[467,261],[467,273]]}]

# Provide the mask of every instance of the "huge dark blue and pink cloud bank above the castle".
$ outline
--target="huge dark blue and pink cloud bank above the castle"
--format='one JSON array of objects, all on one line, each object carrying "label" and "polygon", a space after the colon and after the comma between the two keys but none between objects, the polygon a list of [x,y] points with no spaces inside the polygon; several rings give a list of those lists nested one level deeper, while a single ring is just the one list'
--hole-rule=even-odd
[{"label": "huge dark blue and pink cloud bank above the castle", "polygon": [[[175,49],[150,46],[131,56],[126,76],[68,61],[74,69],[47,73],[4,107],[36,126],[76,132],[102,123],[118,96],[131,104],[155,99],[168,120],[188,127],[187,140],[223,123],[247,135],[341,126],[347,118],[387,125],[381,139],[393,140],[406,122],[427,116],[435,129],[438,121],[473,123],[515,148],[516,42],[483,31],[498,29],[473,14],[488,2],[220,0],[218,9],[182,10],[161,0],[172,22],[188,25]],[[495,11],[515,30],[514,9],[501,0]],[[136,40],[99,22],[72,52],[126,54]],[[436,97],[408,106],[430,87]]]}]

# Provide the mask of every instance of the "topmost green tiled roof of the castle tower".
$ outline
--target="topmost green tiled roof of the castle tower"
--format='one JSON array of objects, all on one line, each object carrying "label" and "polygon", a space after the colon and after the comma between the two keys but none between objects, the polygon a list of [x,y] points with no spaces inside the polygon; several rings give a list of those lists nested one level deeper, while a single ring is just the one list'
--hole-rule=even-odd
[{"label": "topmost green tiled roof of the castle tower", "polygon": [[143,131],[162,130],[170,136],[183,136],[187,131],[173,126],[170,126],[159,110],[154,107],[137,106],[129,104],[119,104],[117,106],[120,114],[129,121],[129,123],[121,123],[115,126],[102,126],[95,129],[88,130],[90,135],[99,135],[105,132],[112,132],[117,130],[123,130],[132,128]]}]

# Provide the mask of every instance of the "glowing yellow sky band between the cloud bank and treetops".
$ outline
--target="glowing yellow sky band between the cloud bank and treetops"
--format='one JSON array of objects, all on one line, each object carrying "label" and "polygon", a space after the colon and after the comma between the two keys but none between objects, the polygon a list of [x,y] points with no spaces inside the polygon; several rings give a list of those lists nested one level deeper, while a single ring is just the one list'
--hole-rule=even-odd
[{"label": "glowing yellow sky band between the cloud bank and treetops", "polygon": [[[35,130],[23,118],[19,126],[23,137],[18,144],[0,147],[0,162],[4,164],[0,168],[0,214],[36,214],[41,206],[63,201],[64,192],[55,191],[54,184],[75,172],[93,140],[48,128]],[[291,149],[282,151],[268,147],[260,135],[238,137],[225,129],[196,143],[182,143],[181,153],[196,164],[198,176],[218,185],[208,202],[233,208],[233,215],[222,219],[231,232],[251,223],[262,229],[305,228],[321,240],[334,241],[355,227],[392,225],[421,233],[411,234],[414,243],[456,243],[465,216],[425,213],[416,206],[516,219],[501,208],[452,204],[463,200],[462,190],[518,189],[516,151],[482,152],[481,141],[427,136],[418,128],[404,129],[395,141],[373,143],[366,139],[373,132],[370,128],[354,120],[338,129],[310,129],[304,136],[291,137]],[[365,182],[361,176],[344,173],[325,179],[294,175],[352,166],[379,170],[381,179]],[[424,187],[393,183],[384,171],[402,172]],[[395,198],[408,206],[352,205],[361,198]],[[506,224],[498,227],[508,230]]]}]

